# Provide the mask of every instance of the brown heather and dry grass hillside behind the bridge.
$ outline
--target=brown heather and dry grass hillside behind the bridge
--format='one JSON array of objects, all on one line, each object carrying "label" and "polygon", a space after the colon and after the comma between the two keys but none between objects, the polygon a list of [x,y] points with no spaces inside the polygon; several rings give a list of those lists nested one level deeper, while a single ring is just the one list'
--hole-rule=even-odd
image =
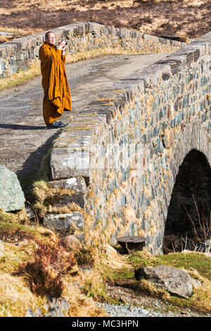
[{"label": "brown heather and dry grass hillside behind the bridge", "polygon": [[0,31],[19,37],[89,21],[155,36],[196,38],[211,30],[210,9],[206,0],[0,0]]}]

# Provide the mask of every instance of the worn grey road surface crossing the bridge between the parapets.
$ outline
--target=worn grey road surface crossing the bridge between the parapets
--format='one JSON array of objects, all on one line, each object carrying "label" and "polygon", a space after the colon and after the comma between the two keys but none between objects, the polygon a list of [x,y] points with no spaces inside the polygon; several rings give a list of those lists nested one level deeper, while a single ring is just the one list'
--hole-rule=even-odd
[{"label": "worn grey road surface crossing the bridge between the parapets", "polygon": [[[127,77],[170,53],[103,56],[66,64],[72,112],[98,99],[117,80]],[[33,178],[59,129],[47,130],[42,117],[41,76],[24,85],[0,91],[0,164],[23,178]],[[68,123],[69,112],[60,120]]]}]

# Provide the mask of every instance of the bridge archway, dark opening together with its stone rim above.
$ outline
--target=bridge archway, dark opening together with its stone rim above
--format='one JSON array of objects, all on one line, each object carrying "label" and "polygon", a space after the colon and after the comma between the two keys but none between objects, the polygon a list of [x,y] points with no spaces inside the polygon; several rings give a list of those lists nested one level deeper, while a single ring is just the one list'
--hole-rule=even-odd
[{"label": "bridge archway, dark opening together with its stone rim above", "polygon": [[168,249],[203,249],[201,243],[211,235],[210,155],[210,139],[202,123],[186,127],[171,163],[172,181],[163,238],[166,253]]}]

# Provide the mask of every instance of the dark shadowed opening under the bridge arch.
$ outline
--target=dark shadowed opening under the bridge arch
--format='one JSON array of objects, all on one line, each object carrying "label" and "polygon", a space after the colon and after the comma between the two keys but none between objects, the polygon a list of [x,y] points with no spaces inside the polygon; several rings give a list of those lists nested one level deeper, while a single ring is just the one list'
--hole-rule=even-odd
[{"label": "dark shadowed opening under the bridge arch", "polygon": [[206,251],[211,239],[211,168],[193,149],[179,167],[168,208],[163,252]]}]

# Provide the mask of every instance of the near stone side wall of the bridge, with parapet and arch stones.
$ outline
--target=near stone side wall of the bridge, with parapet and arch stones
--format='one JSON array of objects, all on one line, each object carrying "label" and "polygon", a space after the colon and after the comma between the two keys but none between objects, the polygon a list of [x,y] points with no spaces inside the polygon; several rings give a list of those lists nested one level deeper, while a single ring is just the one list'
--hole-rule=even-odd
[{"label": "near stone side wall of the bridge, with parapet and arch stones", "polygon": [[179,165],[192,149],[211,163],[210,56],[211,32],[117,82],[56,139],[52,181],[87,183],[84,242],[143,235],[162,252]]}]

